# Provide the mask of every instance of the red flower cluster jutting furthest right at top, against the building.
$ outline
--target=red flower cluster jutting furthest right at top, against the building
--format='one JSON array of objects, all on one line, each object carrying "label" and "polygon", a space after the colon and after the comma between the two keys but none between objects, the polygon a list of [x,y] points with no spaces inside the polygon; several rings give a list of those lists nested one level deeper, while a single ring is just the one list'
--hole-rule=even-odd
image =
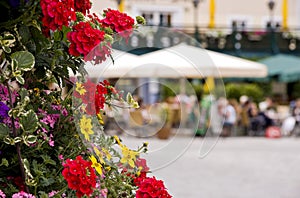
[{"label": "red flower cluster jutting furthest right at top, against the building", "polygon": [[134,19],[126,13],[121,13],[118,10],[107,9],[104,11],[105,18],[100,22],[103,27],[109,27],[113,31],[120,33],[121,36],[127,38],[133,29]]}]

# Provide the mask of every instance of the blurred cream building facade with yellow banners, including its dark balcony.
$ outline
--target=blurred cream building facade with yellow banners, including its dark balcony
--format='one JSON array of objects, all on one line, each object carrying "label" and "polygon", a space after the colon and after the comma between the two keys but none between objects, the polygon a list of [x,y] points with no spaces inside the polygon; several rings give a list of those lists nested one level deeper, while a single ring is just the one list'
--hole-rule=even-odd
[{"label": "blurred cream building facade with yellow banners, including its dark balcony", "polygon": [[[300,55],[300,0],[122,0],[131,16],[172,27],[202,47],[243,57]],[[94,12],[118,1],[94,0]]]}]

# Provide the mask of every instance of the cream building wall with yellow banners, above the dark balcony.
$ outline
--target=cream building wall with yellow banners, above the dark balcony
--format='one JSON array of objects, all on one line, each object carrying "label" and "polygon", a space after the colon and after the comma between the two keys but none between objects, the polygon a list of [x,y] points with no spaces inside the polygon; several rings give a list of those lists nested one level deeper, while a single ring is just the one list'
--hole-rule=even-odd
[{"label": "cream building wall with yellow banners, above the dark balcony", "polygon": [[[288,26],[300,28],[300,0],[274,0],[273,10],[270,10],[269,0],[199,0],[197,8],[194,0],[123,1],[124,11],[132,16],[145,16],[149,25],[189,27],[197,23],[199,27],[208,27],[211,18],[214,18],[217,28],[230,28],[235,22],[239,27],[250,29],[264,28],[270,20],[274,25],[282,26],[286,3]],[[117,1],[93,0],[94,11],[100,12],[107,7],[117,8]]]}]

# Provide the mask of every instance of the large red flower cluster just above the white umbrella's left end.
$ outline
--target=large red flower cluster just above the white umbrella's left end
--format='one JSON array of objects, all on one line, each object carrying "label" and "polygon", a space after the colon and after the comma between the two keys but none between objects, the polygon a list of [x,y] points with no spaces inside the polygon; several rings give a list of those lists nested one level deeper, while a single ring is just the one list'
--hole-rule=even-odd
[{"label": "large red flower cluster just above the white umbrella's left end", "polygon": [[67,34],[71,42],[69,53],[73,56],[87,56],[100,42],[104,41],[105,32],[95,29],[89,22],[79,22],[73,31]]}]

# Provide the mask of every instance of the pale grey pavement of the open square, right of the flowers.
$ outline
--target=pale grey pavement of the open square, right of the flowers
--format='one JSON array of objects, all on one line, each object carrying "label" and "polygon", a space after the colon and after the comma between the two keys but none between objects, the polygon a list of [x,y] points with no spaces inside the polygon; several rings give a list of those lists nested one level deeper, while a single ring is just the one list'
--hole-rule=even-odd
[{"label": "pale grey pavement of the open square, right of the flowers", "polygon": [[121,138],[149,142],[144,157],[174,198],[300,197],[300,138]]}]

